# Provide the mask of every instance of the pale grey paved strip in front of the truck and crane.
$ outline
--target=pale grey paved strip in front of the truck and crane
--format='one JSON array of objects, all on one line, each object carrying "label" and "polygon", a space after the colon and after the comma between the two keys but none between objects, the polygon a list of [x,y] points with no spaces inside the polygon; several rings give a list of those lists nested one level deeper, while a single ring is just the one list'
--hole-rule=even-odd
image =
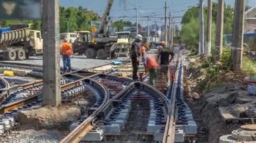
[{"label": "pale grey paved strip in front of the truck and crane", "polygon": [[[115,60],[126,60],[128,58],[120,57]],[[113,60],[99,60],[99,59],[90,59],[85,58],[84,56],[73,56],[71,58],[72,68],[93,68],[95,66],[102,66],[104,64],[110,64]],[[24,64],[35,64],[42,65],[42,56],[31,56],[28,60],[14,60],[14,61],[5,61],[10,63],[24,63]],[[61,66],[63,66],[61,58]]]}]

